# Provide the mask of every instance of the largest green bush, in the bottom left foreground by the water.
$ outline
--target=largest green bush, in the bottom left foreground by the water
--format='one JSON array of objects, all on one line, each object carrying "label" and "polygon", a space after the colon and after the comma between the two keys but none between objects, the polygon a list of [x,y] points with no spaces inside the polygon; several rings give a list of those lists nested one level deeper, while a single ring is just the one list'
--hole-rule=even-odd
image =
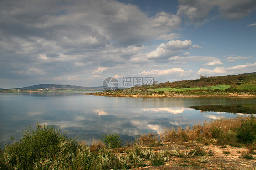
[{"label": "largest green bush, in the bottom left foreground by the water", "polygon": [[[68,152],[75,153],[76,150],[76,140],[67,138],[66,133],[62,133],[60,128],[55,129],[53,126],[37,124],[36,130],[33,128],[24,130],[19,142],[5,146],[5,155],[1,157],[1,166],[11,164],[12,167],[18,169],[32,169],[35,162],[38,162],[36,166],[40,162],[40,164],[42,162],[45,164],[58,157],[60,153],[67,155]],[[10,157],[9,163],[2,161],[6,157]],[[67,160],[70,159],[70,157],[67,158]]]}]

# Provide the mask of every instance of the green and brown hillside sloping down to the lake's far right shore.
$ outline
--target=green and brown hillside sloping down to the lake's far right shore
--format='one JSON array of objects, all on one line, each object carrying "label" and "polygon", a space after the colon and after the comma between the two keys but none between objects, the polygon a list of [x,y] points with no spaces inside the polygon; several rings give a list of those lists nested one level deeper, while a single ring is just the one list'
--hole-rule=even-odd
[{"label": "green and brown hillside sloping down to the lake's far right shore", "polygon": [[256,74],[200,76],[196,80],[167,81],[90,94],[118,97],[256,97]]}]

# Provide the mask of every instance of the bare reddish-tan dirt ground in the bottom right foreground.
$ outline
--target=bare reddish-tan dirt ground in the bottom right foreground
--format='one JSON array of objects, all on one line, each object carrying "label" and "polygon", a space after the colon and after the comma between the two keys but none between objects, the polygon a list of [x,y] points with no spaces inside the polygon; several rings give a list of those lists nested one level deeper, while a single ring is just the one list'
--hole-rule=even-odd
[{"label": "bare reddish-tan dirt ground in the bottom right foreground", "polygon": [[173,150],[174,146],[183,149],[193,149],[197,146],[213,151],[214,155],[209,156],[205,163],[197,161],[199,156],[192,158],[178,158],[171,156],[168,162],[160,166],[134,167],[131,170],[256,170],[255,159],[245,159],[241,154],[248,152],[247,147],[218,146],[214,144],[201,144],[198,142],[167,143],[154,148],[154,150]]}]

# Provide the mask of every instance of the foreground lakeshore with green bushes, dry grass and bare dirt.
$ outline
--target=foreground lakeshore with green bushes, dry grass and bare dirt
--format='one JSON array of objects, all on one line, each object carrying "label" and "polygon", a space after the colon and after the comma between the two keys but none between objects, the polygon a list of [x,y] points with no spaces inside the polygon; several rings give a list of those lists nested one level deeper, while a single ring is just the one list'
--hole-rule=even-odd
[{"label": "foreground lakeshore with green bushes, dry grass and bare dirt", "polygon": [[37,125],[36,130],[24,130],[20,141],[14,141],[1,150],[0,169],[147,169],[159,165],[163,169],[186,166],[195,169],[218,169],[218,166],[241,169],[245,168],[244,165],[253,169],[256,118],[253,115],[239,116],[185,129],[166,129],[162,134],[149,132],[126,145],[122,146],[118,134],[103,135],[101,140],[87,145],[68,138],[60,128]]}]

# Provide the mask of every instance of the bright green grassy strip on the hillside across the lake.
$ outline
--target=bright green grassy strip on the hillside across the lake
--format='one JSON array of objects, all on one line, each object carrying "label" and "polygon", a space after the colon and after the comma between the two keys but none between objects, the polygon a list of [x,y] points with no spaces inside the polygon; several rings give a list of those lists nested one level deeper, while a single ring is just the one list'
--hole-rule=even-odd
[{"label": "bright green grassy strip on the hillside across the lake", "polygon": [[176,88],[170,88],[170,87],[163,87],[163,88],[157,88],[157,89],[151,89],[153,91],[187,91],[187,90],[215,90],[215,89],[220,89],[220,90],[225,90],[227,88],[230,88],[230,85],[214,85],[214,86],[207,86],[207,87],[190,87],[190,88],[181,88],[181,89],[176,89]]}]

